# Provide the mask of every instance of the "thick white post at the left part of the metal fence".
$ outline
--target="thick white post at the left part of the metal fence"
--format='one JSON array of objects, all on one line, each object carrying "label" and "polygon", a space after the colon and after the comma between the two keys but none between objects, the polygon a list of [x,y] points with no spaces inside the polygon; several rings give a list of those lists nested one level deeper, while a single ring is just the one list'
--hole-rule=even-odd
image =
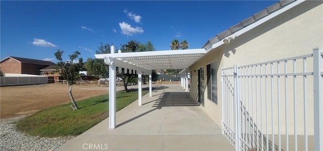
[{"label": "thick white post at the left part of the metal fence", "polygon": [[235,102],[235,112],[236,112],[236,118],[235,118],[235,146],[236,150],[240,150],[240,130],[241,130],[241,125],[240,125],[240,98],[239,98],[239,78],[238,78],[238,66],[234,65],[234,102]]}]

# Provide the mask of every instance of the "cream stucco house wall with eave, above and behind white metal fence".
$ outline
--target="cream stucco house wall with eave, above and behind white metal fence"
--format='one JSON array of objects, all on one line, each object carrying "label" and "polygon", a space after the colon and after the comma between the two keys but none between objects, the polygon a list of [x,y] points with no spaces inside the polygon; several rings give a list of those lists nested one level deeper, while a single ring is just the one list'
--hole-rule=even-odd
[{"label": "cream stucco house wall with eave, above and behind white metal fence", "polygon": [[[191,95],[197,100],[197,80],[194,80],[197,77],[197,69],[200,67],[204,68],[204,79],[206,79],[206,65],[217,61],[219,66],[217,72],[218,105],[215,105],[207,99],[206,87],[204,92],[205,106],[202,108],[220,126],[222,114],[221,67],[232,67],[235,64],[243,66],[311,54],[313,48],[323,46],[322,10],[322,1],[305,1],[264,24],[236,37],[235,40],[230,41],[230,44],[224,44],[210,50],[204,57],[190,67],[191,71],[196,70],[195,73],[191,72]],[[312,61],[308,60],[307,63],[309,64],[307,71],[312,71]],[[302,71],[302,68],[302,66],[297,66],[297,71]],[[308,77],[307,80],[307,85],[309,85],[307,92],[312,93],[312,78]],[[300,81],[297,83],[300,83]],[[293,89],[292,85],[289,85],[289,87]],[[300,95],[301,93],[297,98],[302,98]],[[311,111],[313,108],[313,103],[310,100],[313,100],[312,96],[308,96],[308,111]],[[300,102],[297,102],[297,104],[297,112],[302,113],[303,106]],[[308,127],[312,127],[313,121],[311,117],[313,115],[309,114],[308,117]],[[289,122],[293,123],[294,121],[290,118]],[[299,119],[297,125],[299,125],[297,132],[302,134],[303,129],[301,127],[303,120]],[[293,129],[291,128],[288,133],[292,132]],[[268,133],[271,133],[271,131],[268,131]],[[311,135],[313,131],[309,130],[308,133]]]}]

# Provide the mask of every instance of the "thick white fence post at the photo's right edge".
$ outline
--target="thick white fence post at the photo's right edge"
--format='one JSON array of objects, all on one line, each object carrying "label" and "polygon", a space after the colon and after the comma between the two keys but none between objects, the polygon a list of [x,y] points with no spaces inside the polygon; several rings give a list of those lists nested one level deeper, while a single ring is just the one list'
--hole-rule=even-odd
[{"label": "thick white fence post at the photo's right edge", "polygon": [[314,150],[323,150],[323,47],[313,49]]}]

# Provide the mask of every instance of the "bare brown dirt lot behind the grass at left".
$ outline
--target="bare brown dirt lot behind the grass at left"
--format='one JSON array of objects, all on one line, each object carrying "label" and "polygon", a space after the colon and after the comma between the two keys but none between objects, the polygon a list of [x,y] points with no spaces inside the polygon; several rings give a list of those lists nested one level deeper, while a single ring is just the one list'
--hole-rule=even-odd
[{"label": "bare brown dirt lot behind the grass at left", "polygon": [[[76,100],[106,94],[109,87],[98,84],[74,85]],[[70,102],[66,84],[51,83],[42,85],[0,87],[0,118],[13,117],[66,104]]]}]

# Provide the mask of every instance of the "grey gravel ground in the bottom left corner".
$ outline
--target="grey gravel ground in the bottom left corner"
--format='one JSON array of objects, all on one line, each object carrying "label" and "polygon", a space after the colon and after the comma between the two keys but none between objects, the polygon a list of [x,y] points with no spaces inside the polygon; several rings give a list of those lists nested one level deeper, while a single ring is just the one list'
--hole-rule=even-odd
[{"label": "grey gravel ground in the bottom left corner", "polygon": [[30,136],[16,131],[15,123],[26,115],[0,120],[0,150],[53,150],[73,139],[65,137]]}]

